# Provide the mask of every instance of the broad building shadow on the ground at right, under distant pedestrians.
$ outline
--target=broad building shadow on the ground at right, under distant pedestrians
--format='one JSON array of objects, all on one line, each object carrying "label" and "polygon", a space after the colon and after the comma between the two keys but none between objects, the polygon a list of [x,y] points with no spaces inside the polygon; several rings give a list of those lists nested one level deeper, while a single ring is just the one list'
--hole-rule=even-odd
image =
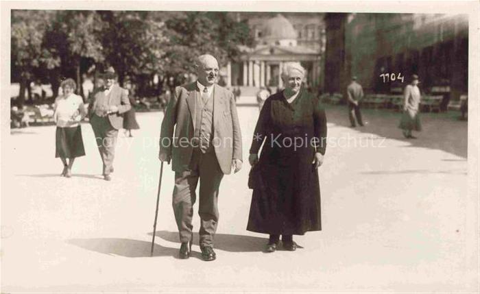
[{"label": "broad building shadow on the ground at right, under distant pedestrians", "polygon": [[[325,105],[325,110],[328,123],[350,127],[347,106]],[[414,132],[414,135],[418,136],[417,139],[403,137],[402,131],[398,128],[400,112],[390,109],[374,110],[362,108],[361,113],[366,126],[356,127],[353,130],[402,140],[410,143],[411,147],[440,149],[456,156],[467,158],[468,123],[459,120],[459,112],[448,111],[420,114],[423,130],[422,132]]]}]

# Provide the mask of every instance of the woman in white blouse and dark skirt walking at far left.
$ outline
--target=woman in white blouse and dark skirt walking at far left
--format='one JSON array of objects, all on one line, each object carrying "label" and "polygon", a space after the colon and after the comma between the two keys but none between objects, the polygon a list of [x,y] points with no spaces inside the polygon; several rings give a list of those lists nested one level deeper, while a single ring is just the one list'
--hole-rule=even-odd
[{"label": "woman in white blouse and dark skirt walking at far left", "polygon": [[77,87],[73,79],[65,79],[60,87],[63,95],[55,100],[53,113],[53,119],[57,124],[55,157],[62,160],[61,175],[71,177],[75,158],[85,155],[80,121],[86,116],[86,110],[82,97],[74,93]]}]

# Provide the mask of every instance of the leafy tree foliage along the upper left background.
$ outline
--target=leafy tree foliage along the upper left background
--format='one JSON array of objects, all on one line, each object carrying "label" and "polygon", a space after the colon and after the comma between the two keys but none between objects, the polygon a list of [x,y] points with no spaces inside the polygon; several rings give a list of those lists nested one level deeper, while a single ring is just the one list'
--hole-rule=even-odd
[{"label": "leafy tree foliage along the upper left background", "polygon": [[211,53],[220,65],[251,45],[247,23],[227,12],[14,10],[12,78],[80,77],[91,66],[113,66],[123,77],[178,77]]}]

